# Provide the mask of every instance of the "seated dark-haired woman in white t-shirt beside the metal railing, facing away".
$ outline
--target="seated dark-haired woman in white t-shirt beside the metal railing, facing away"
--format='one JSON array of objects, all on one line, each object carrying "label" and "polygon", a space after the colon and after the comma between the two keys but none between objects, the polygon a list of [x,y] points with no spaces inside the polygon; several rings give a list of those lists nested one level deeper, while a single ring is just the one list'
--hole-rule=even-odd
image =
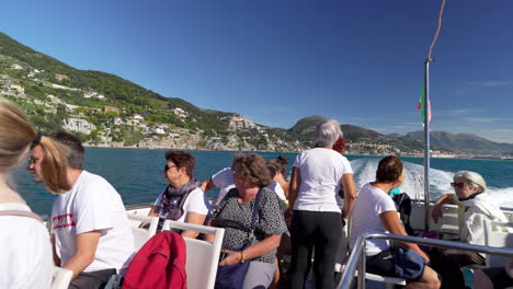
[{"label": "seated dark-haired woman in white t-shirt beside the metal railing, facing away", "polygon": [[[350,247],[354,247],[356,239],[364,233],[394,233],[407,235],[399,219],[394,200],[388,193],[402,185],[406,173],[402,162],[397,157],[386,157],[379,161],[376,181],[363,186],[353,208],[351,223]],[[366,241],[366,270],[383,276],[398,276],[396,273],[395,254],[388,240]],[[429,263],[430,258],[418,245],[399,243]],[[436,273],[424,265],[422,273],[415,279],[407,280],[406,288],[438,288]]]}]

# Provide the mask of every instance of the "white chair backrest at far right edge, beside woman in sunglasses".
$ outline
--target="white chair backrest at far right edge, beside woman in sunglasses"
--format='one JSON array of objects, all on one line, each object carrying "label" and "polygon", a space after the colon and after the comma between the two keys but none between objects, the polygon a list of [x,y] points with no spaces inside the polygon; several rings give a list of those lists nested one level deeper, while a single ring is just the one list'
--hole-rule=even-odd
[{"label": "white chair backrest at far right edge, beside woman in sunglasses", "polygon": [[[513,248],[513,233],[497,230],[497,228],[513,228],[513,223],[502,223],[490,220],[485,220],[485,245],[494,247],[511,247]],[[503,267],[508,262],[508,257],[487,254],[488,267]]]}]

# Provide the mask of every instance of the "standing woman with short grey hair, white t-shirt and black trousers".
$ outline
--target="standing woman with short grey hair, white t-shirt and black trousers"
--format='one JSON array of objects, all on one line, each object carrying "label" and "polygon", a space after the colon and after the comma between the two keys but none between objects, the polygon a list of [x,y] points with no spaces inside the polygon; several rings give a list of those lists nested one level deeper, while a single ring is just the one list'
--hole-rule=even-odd
[{"label": "standing woman with short grey hair, white t-shirt and black trousers", "polygon": [[[340,137],[342,131],[337,120],[322,122],[317,127],[317,148],[303,151],[294,162],[288,193],[288,213],[293,213],[290,288],[304,288],[314,247],[316,288],[334,287],[333,268],[342,236],[342,218],[349,218],[355,200],[351,164],[332,149]],[[341,187],[343,211],[335,198]]]}]

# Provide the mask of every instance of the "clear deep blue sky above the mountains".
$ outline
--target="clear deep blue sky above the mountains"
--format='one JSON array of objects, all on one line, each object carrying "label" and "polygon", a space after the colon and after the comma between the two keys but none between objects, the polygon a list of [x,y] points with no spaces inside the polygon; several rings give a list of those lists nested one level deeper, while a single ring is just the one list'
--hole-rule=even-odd
[{"label": "clear deep blue sky above the mountains", "polygon": [[[322,115],[421,130],[441,1],[16,0],[0,31],[72,67],[282,128]],[[433,130],[513,143],[513,1],[447,1]]]}]

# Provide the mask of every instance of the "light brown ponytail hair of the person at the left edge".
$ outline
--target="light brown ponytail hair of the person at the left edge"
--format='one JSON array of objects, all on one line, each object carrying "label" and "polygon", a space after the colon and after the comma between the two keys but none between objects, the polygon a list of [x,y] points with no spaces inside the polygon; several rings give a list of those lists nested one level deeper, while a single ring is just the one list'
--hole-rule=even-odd
[{"label": "light brown ponytail hair of the person at the left edge", "polygon": [[38,144],[44,152],[42,176],[48,189],[59,194],[71,188],[66,173],[67,149],[48,137],[38,136],[20,109],[3,97],[0,97],[0,173],[15,170],[30,149]]}]

